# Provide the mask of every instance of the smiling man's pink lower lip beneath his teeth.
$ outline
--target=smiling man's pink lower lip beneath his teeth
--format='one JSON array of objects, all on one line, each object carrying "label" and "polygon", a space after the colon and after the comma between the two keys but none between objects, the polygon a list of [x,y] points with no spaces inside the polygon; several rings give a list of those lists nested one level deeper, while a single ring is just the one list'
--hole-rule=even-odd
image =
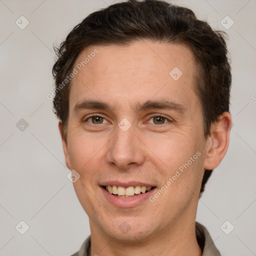
[{"label": "smiling man's pink lower lip beneath his teeth", "polygon": [[150,191],[147,191],[146,193],[140,193],[137,195],[133,195],[130,197],[118,197],[113,194],[110,194],[106,191],[106,189],[102,186],[100,186],[103,194],[105,195],[106,199],[113,205],[117,207],[135,207],[139,205],[142,201],[148,199],[148,197],[154,193],[155,188],[151,189]]}]

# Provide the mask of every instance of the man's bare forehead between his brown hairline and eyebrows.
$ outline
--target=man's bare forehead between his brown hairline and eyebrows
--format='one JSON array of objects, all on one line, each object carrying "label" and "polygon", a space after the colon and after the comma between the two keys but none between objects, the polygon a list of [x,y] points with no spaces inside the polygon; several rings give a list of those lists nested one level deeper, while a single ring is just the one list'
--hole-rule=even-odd
[{"label": "man's bare forehead between his brown hairline and eyebrows", "polygon": [[[96,54],[94,54],[97,52]],[[128,45],[90,46],[77,57],[70,89],[70,108],[84,98],[119,107],[157,97],[195,104],[195,62],[181,44],[149,40]]]}]

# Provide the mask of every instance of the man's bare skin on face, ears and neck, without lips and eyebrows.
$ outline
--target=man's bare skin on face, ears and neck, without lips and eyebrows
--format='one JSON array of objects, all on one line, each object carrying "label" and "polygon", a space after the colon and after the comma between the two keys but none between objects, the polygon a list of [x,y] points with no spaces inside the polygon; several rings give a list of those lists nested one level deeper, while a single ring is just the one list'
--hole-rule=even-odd
[{"label": "man's bare skin on face, ears and neck, without lips and eyebrows", "polygon": [[[74,66],[95,48],[99,52],[72,79],[66,138],[59,122],[66,165],[80,174],[73,185],[89,217],[90,255],[201,255],[194,232],[201,180],[204,169],[217,167],[226,153],[230,114],[219,116],[204,137],[194,92],[195,62],[184,45],[144,40],[90,46]],[[183,72],[176,81],[169,75],[173,67]],[[85,99],[111,108],[74,110]],[[160,99],[179,103],[184,111],[132,108]],[[103,117],[102,123],[89,118],[92,113]],[[153,114],[167,119],[155,120]],[[131,123],[125,132],[118,127],[123,118]],[[116,207],[99,187],[111,179],[147,182],[159,189],[197,151],[201,155],[154,202]],[[127,233],[118,228],[123,221],[130,226]]]}]

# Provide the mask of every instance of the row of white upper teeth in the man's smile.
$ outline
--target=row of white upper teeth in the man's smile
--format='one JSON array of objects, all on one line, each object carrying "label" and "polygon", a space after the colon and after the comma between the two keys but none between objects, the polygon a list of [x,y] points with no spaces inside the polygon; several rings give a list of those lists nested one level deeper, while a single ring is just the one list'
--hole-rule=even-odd
[{"label": "row of white upper teeth in the man's smile", "polygon": [[139,194],[140,192],[144,193],[145,191],[149,191],[151,186],[129,186],[127,188],[123,186],[111,186],[107,185],[106,190],[109,193],[118,194],[118,195],[134,195]]}]

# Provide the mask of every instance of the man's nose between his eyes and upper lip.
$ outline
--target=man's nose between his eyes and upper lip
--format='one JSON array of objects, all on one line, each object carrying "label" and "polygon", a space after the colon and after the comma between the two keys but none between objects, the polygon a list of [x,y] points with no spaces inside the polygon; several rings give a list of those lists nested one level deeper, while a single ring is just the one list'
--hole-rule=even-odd
[{"label": "man's nose between his eyes and upper lip", "polygon": [[111,165],[116,165],[118,169],[125,170],[132,165],[141,165],[145,160],[145,148],[134,133],[131,127],[123,131],[118,126],[112,139],[109,141],[109,150],[106,161]]}]

